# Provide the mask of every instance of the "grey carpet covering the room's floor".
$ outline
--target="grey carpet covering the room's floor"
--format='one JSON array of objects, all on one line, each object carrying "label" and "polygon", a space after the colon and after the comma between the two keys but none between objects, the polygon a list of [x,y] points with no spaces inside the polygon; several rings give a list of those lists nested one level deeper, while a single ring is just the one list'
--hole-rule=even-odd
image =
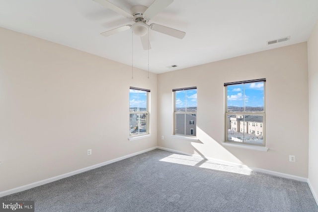
[{"label": "grey carpet covering the room's floor", "polygon": [[39,212],[318,212],[307,183],[159,149],[0,200]]}]

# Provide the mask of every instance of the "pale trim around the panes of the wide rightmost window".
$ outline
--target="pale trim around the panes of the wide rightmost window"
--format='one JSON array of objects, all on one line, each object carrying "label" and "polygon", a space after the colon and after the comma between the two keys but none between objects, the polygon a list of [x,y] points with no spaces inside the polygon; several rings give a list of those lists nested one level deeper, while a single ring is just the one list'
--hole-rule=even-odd
[{"label": "pale trim around the panes of the wide rightmost window", "polygon": [[[246,84],[246,83],[252,83],[252,82],[263,82],[264,85],[264,111],[263,112],[228,112],[228,85],[237,85],[237,84]],[[255,147],[266,147],[266,79],[255,79],[255,80],[245,80],[245,81],[238,81],[238,82],[228,82],[224,83],[224,93],[225,93],[225,141],[223,142],[224,145],[228,144],[231,146],[255,146]],[[245,88],[244,91],[245,93]],[[245,95],[245,94],[244,94]],[[244,105],[245,108],[245,105]],[[245,109],[244,109],[245,110]],[[239,142],[239,141],[229,141],[228,139],[228,115],[242,115],[243,118],[245,115],[262,115],[263,116],[263,124],[262,124],[262,129],[263,129],[263,144],[256,144],[256,143],[244,143],[244,142]],[[245,119],[243,120],[245,122]],[[249,123],[248,123],[249,125]],[[252,126],[255,127],[255,123],[252,123]],[[252,131],[254,132],[254,131]],[[250,149],[255,149],[255,148],[250,148]],[[266,148],[267,151],[268,148]]]}]

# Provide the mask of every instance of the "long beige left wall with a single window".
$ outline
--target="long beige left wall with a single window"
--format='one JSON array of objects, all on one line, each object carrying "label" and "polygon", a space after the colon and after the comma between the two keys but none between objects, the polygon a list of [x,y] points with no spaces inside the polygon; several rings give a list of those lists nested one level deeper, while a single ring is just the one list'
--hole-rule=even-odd
[{"label": "long beige left wall with a single window", "polygon": [[[151,89],[151,138],[128,141],[129,86]],[[0,192],[155,146],[157,74],[0,28]]]}]

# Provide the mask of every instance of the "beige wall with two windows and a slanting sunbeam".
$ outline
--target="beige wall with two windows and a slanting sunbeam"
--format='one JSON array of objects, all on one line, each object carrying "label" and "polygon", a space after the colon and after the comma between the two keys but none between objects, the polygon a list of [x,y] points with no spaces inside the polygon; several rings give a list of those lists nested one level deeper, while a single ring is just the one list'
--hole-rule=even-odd
[{"label": "beige wall with two windows and a slanting sunbeam", "polygon": [[[158,145],[307,178],[307,65],[305,42],[159,74]],[[224,83],[259,78],[266,78],[266,146],[269,150],[262,152],[223,146]],[[173,129],[172,89],[191,86],[198,88],[199,142],[170,136]],[[296,155],[295,163],[289,162],[289,155]]]}]

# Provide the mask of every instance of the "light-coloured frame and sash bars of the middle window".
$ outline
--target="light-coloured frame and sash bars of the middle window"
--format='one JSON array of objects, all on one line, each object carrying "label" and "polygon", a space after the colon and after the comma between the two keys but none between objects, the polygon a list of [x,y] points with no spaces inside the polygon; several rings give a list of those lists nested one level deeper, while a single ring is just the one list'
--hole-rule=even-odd
[{"label": "light-coloured frame and sash bars of the middle window", "polygon": [[[197,123],[197,111],[190,111],[190,112],[187,112],[187,111],[182,111],[182,112],[177,112],[176,111],[176,104],[175,104],[175,101],[176,101],[176,94],[175,92],[176,91],[179,91],[179,90],[192,90],[192,89],[196,89],[197,90],[197,87],[187,87],[187,88],[179,88],[179,89],[172,89],[172,92],[173,92],[173,136],[181,136],[181,137],[190,137],[190,138],[196,138],[196,135],[186,135],[186,118],[184,119],[184,134],[177,134],[176,133],[176,114],[195,114],[195,118],[196,118],[196,121],[194,122],[193,125],[195,125],[195,128],[197,127],[196,123]],[[198,110],[198,109],[197,109]],[[194,130],[194,128],[191,128]],[[191,132],[191,129],[190,129],[190,132]],[[191,133],[190,133],[191,134]]]}]

